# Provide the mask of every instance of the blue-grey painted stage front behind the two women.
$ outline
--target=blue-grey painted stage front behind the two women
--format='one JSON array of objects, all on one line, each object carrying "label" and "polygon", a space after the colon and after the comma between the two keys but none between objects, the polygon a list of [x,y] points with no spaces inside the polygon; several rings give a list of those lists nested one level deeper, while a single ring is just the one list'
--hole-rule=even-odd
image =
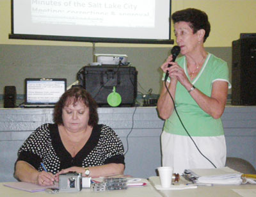
[{"label": "blue-grey painted stage front behind the two women", "polygon": [[[99,123],[115,130],[127,150],[125,175],[156,176],[161,166],[160,136],[164,121],[156,107],[99,107]],[[135,111],[135,113],[134,113]],[[13,165],[24,140],[37,127],[52,123],[52,108],[0,108],[0,182],[13,182]],[[221,116],[227,156],[249,161],[256,168],[256,106],[228,106]],[[133,127],[132,127],[133,125]],[[140,159],[135,159],[140,158]]]}]

